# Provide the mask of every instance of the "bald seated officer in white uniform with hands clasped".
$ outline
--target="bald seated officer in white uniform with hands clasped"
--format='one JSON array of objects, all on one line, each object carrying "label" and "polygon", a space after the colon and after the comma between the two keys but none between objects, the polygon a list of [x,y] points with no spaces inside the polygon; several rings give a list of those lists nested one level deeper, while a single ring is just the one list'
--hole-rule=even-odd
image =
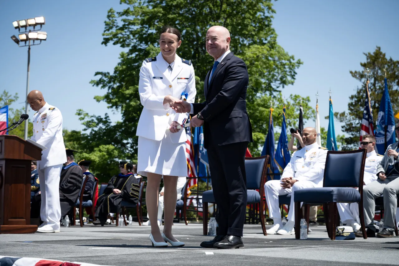
[{"label": "bald seated officer in white uniform with hands clasped", "polygon": [[[265,183],[265,197],[269,207],[269,216],[273,218],[274,222],[273,227],[266,231],[268,234],[294,234],[294,192],[302,188],[323,186],[327,149],[316,143],[316,137],[316,129],[304,128],[302,132],[304,148],[300,148],[292,154],[280,180],[271,180]],[[279,195],[289,193],[292,193],[292,195],[288,221],[282,227]]]}]

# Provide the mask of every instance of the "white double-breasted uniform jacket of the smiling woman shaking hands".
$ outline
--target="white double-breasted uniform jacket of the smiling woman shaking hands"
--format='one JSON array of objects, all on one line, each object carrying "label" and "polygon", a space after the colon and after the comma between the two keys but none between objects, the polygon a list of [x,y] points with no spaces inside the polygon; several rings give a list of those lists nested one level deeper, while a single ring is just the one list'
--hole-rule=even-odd
[{"label": "white double-breasted uniform jacket of the smiling woman shaking hands", "polygon": [[[172,73],[169,64],[159,53],[156,57],[145,59],[140,69],[138,93],[144,106],[138,120],[136,136],[160,141],[172,121],[182,124],[187,113],[178,114],[169,104],[163,104],[166,95],[181,99],[182,93],[188,93],[187,102],[194,102],[196,97],[196,83],[194,67],[191,61],[176,55]],[[178,133],[168,134],[172,143],[186,142],[184,129]]]}]

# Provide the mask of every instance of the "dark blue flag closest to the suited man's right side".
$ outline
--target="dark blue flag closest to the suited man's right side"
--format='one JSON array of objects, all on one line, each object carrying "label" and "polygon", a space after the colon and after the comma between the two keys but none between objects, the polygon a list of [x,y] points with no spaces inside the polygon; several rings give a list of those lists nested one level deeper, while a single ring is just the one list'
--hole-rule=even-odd
[{"label": "dark blue flag closest to the suited man's right side", "polygon": [[[263,145],[263,150],[261,156],[269,155],[269,164],[267,165],[267,180],[280,179],[280,170],[277,166],[275,160],[275,143],[274,143],[274,130],[273,130],[273,108],[270,108],[269,115],[269,131],[267,132],[265,145]],[[270,174],[276,175],[270,175]]]}]

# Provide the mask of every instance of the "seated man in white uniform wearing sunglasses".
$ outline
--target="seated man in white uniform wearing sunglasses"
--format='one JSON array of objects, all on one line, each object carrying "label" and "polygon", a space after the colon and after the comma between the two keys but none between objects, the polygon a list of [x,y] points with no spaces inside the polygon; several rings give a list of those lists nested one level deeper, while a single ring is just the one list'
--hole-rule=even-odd
[{"label": "seated man in white uniform wearing sunglasses", "polygon": [[[360,142],[362,149],[367,149],[366,163],[364,166],[363,187],[377,180],[377,165],[382,160],[382,155],[374,150],[375,137],[373,135],[364,135]],[[352,226],[356,233],[360,229],[359,204],[358,203],[337,203],[338,213],[342,223]]]}]

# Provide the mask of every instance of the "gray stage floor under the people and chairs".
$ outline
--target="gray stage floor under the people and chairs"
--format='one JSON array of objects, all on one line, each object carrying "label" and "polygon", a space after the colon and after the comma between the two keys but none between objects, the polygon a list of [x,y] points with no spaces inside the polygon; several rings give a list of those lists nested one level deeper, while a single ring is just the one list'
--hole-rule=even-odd
[{"label": "gray stage floor under the people and chairs", "polygon": [[[270,227],[270,226],[268,226]],[[161,227],[162,228],[162,227]],[[308,240],[263,236],[260,225],[245,225],[245,248],[201,248],[210,237],[202,224],[174,225],[182,248],[153,248],[150,227],[85,225],[61,233],[0,234],[0,255],[47,258],[100,265],[371,265],[399,264],[399,238],[331,241],[324,226],[311,227]],[[211,253],[208,253],[211,252]]]}]

